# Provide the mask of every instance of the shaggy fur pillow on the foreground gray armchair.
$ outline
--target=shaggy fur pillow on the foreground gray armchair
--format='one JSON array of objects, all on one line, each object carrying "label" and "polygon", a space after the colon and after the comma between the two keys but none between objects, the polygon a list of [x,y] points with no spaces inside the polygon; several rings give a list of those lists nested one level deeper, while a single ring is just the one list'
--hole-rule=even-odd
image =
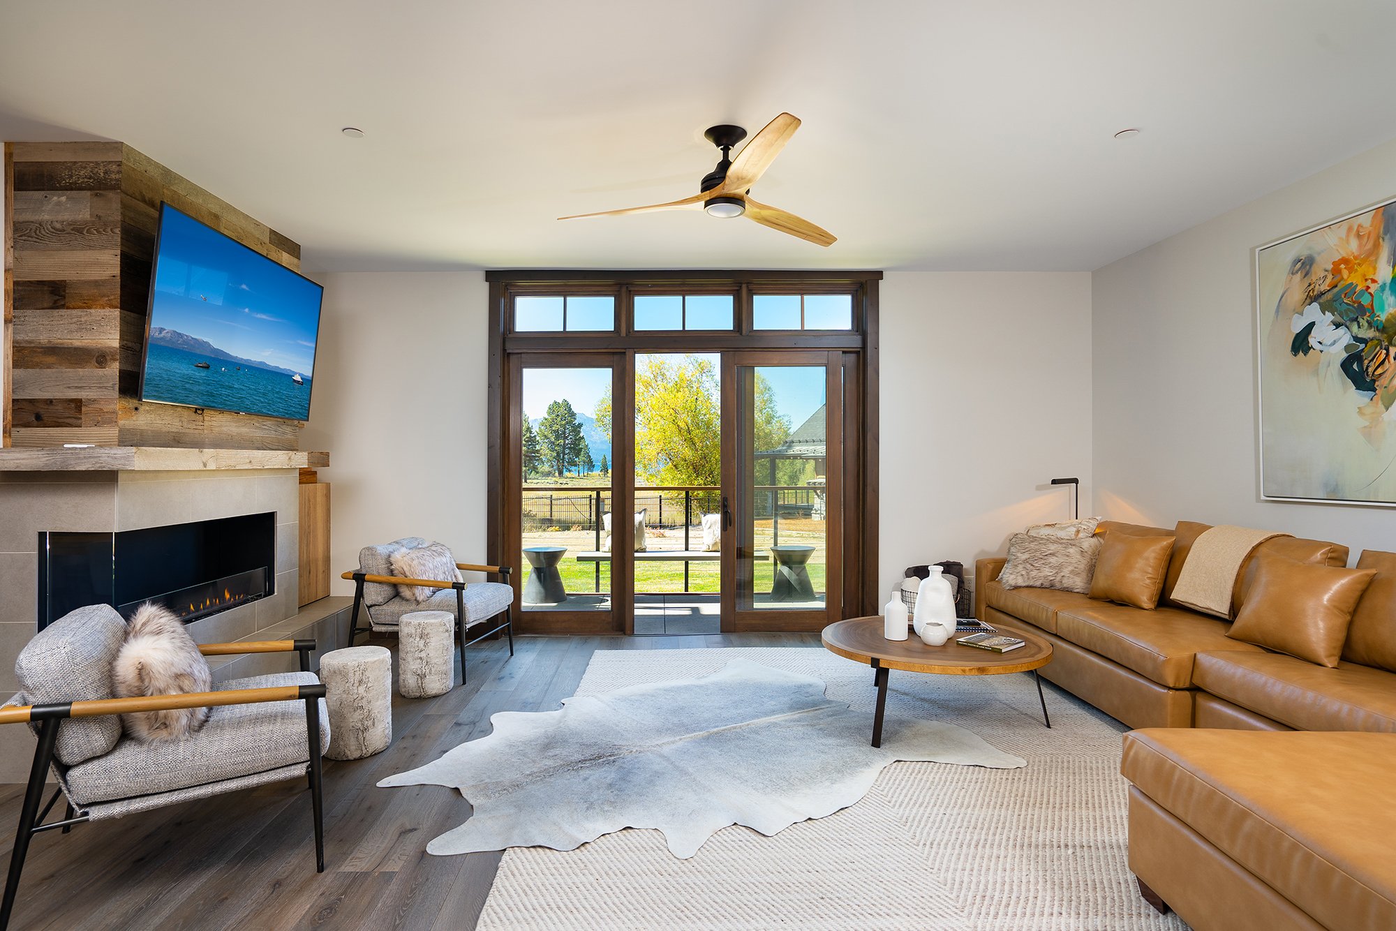
[{"label": "shaggy fur pillow on the foreground gray armchair", "polygon": [[[168,609],[147,602],[135,609],[126,625],[126,643],[112,664],[112,685],[117,698],[184,695],[214,691],[214,677],[184,623]],[[191,736],[209,713],[211,708],[131,712],[121,715],[121,723],[127,734],[151,744]]]}]

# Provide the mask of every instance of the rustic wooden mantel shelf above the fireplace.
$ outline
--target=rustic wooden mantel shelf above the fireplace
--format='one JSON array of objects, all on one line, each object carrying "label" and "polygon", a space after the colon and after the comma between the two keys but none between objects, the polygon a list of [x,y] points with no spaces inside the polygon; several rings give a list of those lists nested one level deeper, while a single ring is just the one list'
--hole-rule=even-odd
[{"label": "rustic wooden mantel shelf above the fireplace", "polygon": [[296,449],[176,449],[173,447],[0,449],[0,472],[200,472],[324,469],[328,465],[328,452]]}]

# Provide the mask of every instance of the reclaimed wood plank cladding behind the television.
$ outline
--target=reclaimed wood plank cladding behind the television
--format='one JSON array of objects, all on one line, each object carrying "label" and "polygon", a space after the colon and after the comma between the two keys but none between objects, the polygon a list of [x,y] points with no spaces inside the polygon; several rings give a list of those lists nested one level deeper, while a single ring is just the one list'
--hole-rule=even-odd
[{"label": "reclaimed wood plank cladding behind the television", "polygon": [[295,449],[297,422],[137,394],[161,201],[293,271],[300,246],[121,142],[4,152],[4,445]]}]

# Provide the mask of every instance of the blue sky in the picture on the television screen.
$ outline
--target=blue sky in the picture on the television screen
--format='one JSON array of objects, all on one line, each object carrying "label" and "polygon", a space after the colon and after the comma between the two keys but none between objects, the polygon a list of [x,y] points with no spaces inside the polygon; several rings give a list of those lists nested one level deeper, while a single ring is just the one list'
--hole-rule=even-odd
[{"label": "blue sky in the picture on the television screen", "polygon": [[309,375],[318,321],[318,285],[163,208],[152,327]]}]

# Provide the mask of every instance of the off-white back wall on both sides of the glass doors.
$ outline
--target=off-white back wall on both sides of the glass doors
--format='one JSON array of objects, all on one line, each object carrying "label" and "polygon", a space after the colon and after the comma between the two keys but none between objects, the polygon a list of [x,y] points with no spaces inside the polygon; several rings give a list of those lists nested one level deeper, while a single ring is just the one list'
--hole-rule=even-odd
[{"label": "off-white back wall on both sides of the glass doors", "polygon": [[[334,590],[359,547],[417,535],[486,557],[480,272],[336,272],[302,447],[329,449]],[[881,286],[881,572],[1004,551],[1090,490],[1090,275],[889,272]],[[885,599],[884,599],[885,600]]]}]

